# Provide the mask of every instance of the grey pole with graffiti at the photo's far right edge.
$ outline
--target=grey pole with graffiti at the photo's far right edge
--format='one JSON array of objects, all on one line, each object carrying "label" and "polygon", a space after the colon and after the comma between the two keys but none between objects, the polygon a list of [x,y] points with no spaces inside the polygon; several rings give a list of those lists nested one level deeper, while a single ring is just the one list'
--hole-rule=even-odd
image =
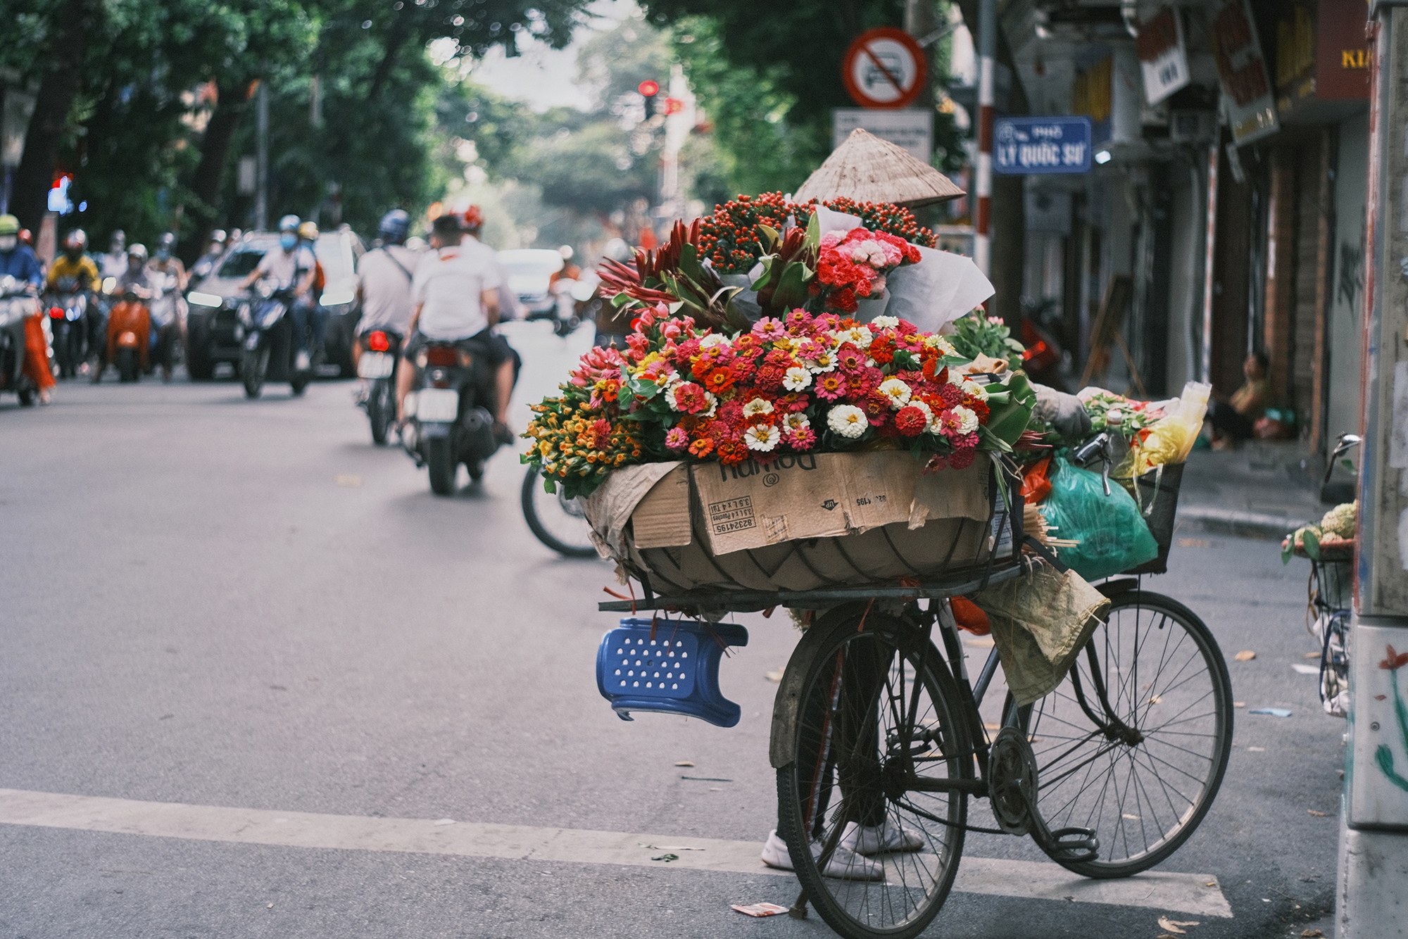
[{"label": "grey pole with graffiti at the photo's far right edge", "polygon": [[1408,938],[1408,0],[1374,0],[1363,442],[1338,939]]}]

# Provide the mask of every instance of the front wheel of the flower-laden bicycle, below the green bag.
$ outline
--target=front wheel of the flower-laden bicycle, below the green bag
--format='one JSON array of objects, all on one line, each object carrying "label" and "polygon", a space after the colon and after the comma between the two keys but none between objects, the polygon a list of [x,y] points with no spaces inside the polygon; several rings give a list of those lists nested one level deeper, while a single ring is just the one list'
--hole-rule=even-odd
[{"label": "front wheel of the flower-laden bicycle, below the green bag", "polygon": [[1114,594],[1060,687],[1018,717],[1046,824],[1100,839],[1097,860],[1055,860],[1129,877],[1176,852],[1212,805],[1232,750],[1232,681],[1191,610],[1132,588]]}]

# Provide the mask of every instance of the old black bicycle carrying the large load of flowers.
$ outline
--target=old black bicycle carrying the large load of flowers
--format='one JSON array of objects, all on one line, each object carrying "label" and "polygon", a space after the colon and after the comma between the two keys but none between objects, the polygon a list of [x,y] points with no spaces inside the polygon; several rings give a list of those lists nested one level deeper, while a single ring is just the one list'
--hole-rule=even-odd
[{"label": "old black bicycle carrying the large load of flowers", "polygon": [[[1035,539],[1026,543],[1046,555]],[[1063,569],[1055,557],[1046,560]],[[1031,835],[1074,873],[1128,877],[1167,859],[1193,835],[1226,771],[1232,749],[1226,662],[1193,611],[1143,590],[1142,580],[1131,576],[1098,584],[1111,601],[1107,621],[1094,628],[1060,686],[1028,705],[1008,693],[1000,729],[988,733],[979,708],[997,674],[998,650],[993,648],[970,681],[948,601],[1018,577],[1028,563],[1031,556],[1019,556],[1008,566],[950,580],[811,591],[656,595],[645,577],[643,598],[600,608],[708,611],[708,619],[774,605],[825,610],[783,673],[769,748],[777,771],[779,835],[801,883],[791,914],[805,916],[810,902],[848,939],[910,939],[924,932],[948,898],[967,832]],[[650,646],[659,629],[662,649],[672,641],[677,648],[681,628],[700,631],[700,652],[708,638],[724,645],[724,631],[708,624],[625,621],[622,626],[628,624],[648,631]],[[746,642],[739,626],[728,629]],[[607,635],[598,657],[604,694],[605,681],[624,688],[627,677],[615,677],[621,672],[607,677],[603,669],[631,664],[611,657],[607,642],[614,646],[615,635]],[[646,639],[635,642],[639,648]],[[712,663],[696,663],[703,676],[691,680],[712,681],[707,697],[717,702],[718,656],[711,652]],[[652,670],[674,667],[665,657],[649,660],[673,659],[672,652],[645,656],[631,662]],[[612,705],[622,714],[621,701]],[[635,707],[683,712],[676,701]],[[995,828],[970,824],[970,798],[990,801]],[[876,878],[870,878],[874,866],[846,866],[856,852],[880,862]]]}]

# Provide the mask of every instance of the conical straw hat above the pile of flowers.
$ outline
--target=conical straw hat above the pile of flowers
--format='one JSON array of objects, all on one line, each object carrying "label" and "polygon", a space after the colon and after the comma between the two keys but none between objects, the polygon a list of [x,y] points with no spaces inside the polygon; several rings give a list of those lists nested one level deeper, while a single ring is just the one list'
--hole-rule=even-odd
[{"label": "conical straw hat above the pile of flowers", "polygon": [[793,198],[805,203],[841,196],[860,203],[915,207],[957,198],[963,190],[910,151],[857,127]]}]

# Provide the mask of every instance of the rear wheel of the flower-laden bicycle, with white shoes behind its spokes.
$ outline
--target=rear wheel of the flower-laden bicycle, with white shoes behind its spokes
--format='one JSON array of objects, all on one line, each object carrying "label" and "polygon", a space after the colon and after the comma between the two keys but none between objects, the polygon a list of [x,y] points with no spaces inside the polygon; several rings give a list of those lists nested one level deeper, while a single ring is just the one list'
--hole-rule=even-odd
[{"label": "rear wheel of the flower-laden bicycle, with white shoes behind its spokes", "polygon": [[972,779],[953,679],[917,625],[857,604],[822,617],[788,672],[781,694],[798,708],[779,833],[797,878],[842,936],[918,936],[963,852],[967,795],[932,790]]}]

